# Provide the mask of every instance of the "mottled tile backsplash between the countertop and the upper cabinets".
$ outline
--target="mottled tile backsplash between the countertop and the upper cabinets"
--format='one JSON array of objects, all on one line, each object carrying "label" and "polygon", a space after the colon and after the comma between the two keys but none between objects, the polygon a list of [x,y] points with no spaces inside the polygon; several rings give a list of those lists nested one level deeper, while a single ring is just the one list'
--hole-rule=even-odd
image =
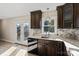
[{"label": "mottled tile backsplash between the countertop and the upper cabinets", "polygon": [[[61,37],[65,39],[79,40],[79,29],[58,29],[57,34],[50,34],[50,37]],[[31,36],[42,36],[41,29],[31,29]]]}]

